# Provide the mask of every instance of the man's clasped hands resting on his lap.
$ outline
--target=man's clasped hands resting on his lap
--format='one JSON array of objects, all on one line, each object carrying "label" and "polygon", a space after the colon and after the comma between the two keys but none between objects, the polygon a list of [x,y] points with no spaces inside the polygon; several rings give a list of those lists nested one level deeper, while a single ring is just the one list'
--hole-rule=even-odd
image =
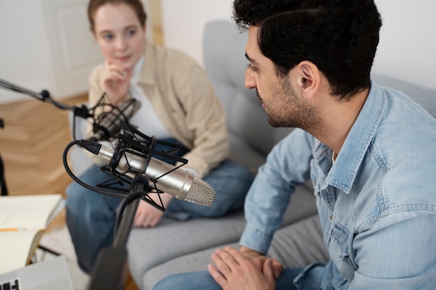
[{"label": "man's clasped hands resting on his lap", "polygon": [[[260,255],[260,254],[259,254]],[[208,265],[210,275],[224,290],[272,290],[275,287],[274,261],[246,257],[231,247],[212,254],[215,266]]]}]

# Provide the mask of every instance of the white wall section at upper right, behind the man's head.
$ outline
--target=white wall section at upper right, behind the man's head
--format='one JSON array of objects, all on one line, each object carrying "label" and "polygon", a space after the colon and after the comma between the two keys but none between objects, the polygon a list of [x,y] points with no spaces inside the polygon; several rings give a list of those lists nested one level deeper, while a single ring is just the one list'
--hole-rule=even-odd
[{"label": "white wall section at upper right, behind the man's head", "polygon": [[383,26],[373,72],[436,88],[436,1],[375,2]]}]

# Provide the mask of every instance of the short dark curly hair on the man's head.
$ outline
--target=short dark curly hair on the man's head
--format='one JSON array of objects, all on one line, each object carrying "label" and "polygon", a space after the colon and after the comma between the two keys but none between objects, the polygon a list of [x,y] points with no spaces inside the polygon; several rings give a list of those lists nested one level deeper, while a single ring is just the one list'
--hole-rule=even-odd
[{"label": "short dark curly hair on the man's head", "polygon": [[233,19],[240,31],[259,27],[260,51],[279,75],[311,61],[341,99],[370,86],[382,26],[373,0],[235,0]]}]

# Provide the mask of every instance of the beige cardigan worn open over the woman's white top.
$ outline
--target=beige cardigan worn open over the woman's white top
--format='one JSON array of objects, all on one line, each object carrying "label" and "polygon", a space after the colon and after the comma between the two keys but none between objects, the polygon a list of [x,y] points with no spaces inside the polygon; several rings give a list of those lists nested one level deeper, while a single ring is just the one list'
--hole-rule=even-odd
[{"label": "beige cardigan worn open over the woman's white top", "polygon": [[[95,67],[90,76],[91,107],[103,93],[103,70],[104,65]],[[187,168],[203,178],[228,157],[226,113],[204,70],[192,58],[146,42],[138,84],[171,136],[191,150],[183,156],[188,160]]]}]

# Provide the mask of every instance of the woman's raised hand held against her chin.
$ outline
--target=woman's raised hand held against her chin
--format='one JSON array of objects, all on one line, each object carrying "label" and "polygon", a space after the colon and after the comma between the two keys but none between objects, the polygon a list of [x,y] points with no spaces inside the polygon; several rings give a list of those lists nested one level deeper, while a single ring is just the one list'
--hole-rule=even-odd
[{"label": "woman's raised hand held against her chin", "polygon": [[105,63],[100,86],[106,92],[111,103],[123,101],[129,92],[132,69],[114,63]]}]

